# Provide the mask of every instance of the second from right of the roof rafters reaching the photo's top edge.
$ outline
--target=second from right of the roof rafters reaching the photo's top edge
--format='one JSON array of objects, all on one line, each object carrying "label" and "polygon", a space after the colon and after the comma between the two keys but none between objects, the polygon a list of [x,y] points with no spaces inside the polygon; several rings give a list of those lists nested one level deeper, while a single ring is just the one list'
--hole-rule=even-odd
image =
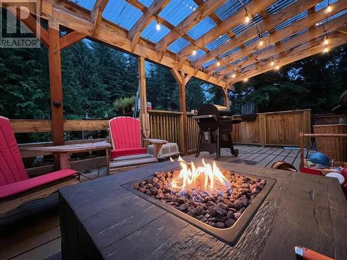
[{"label": "second from right of the roof rafters reaching the photo's top edge", "polygon": [[[246,8],[257,13],[261,10],[264,10],[267,6],[270,6],[271,3],[275,2],[276,0],[253,0],[251,1],[251,3],[246,4]],[[192,53],[194,46],[200,47],[205,44],[208,44],[209,42],[212,42],[213,40],[217,39],[219,35],[223,35],[235,26],[242,24],[244,22],[244,17],[245,10],[244,8],[241,8],[240,10],[235,12],[234,15],[230,16],[228,19],[226,19],[225,21],[221,22],[216,27],[208,31],[208,33],[205,33],[204,35],[199,37],[196,41],[194,41],[193,44],[189,44],[187,47],[185,47],[185,49],[181,50],[178,53],[178,57],[180,59],[187,57]]]}]

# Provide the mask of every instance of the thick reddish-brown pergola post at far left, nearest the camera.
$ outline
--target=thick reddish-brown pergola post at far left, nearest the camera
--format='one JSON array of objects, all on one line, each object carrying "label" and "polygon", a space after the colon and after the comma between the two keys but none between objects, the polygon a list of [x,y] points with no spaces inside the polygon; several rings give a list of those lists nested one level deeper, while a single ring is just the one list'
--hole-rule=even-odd
[{"label": "thick reddish-brown pergola post at far left, nearest the camera", "polygon": [[[51,129],[53,144],[64,144],[64,118],[62,110],[62,73],[60,61],[60,33],[56,21],[49,20],[49,83],[51,87]],[[60,156],[55,156],[60,167]]]}]

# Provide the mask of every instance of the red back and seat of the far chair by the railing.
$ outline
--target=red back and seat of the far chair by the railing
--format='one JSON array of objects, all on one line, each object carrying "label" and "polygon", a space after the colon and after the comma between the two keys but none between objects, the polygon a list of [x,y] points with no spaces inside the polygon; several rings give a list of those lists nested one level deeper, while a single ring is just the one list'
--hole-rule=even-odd
[{"label": "red back and seat of the far chair by the railing", "polygon": [[108,121],[112,141],[111,159],[127,155],[146,155],[147,148],[141,147],[139,119],[119,116]]}]

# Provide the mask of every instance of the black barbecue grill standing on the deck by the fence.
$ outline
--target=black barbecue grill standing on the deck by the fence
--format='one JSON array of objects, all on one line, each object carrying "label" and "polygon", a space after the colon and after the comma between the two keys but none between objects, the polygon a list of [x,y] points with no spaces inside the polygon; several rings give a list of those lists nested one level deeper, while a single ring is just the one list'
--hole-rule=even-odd
[{"label": "black barbecue grill standing on the deck by the fence", "polygon": [[234,149],[232,144],[231,132],[232,124],[240,123],[242,120],[233,120],[227,107],[205,104],[193,118],[200,128],[195,157],[198,157],[201,151],[208,151],[211,154],[216,153],[218,160],[221,157],[221,148],[230,148],[231,154],[235,157],[239,155],[239,150]]}]

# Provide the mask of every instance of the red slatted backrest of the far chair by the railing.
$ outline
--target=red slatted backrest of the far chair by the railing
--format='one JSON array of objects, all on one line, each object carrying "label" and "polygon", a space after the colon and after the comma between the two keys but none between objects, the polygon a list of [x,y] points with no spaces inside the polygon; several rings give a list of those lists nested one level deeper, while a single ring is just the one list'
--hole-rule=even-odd
[{"label": "red slatted backrest of the far chair by the railing", "polygon": [[139,119],[128,116],[119,116],[108,121],[112,147],[115,149],[128,149],[141,147],[141,127]]}]

